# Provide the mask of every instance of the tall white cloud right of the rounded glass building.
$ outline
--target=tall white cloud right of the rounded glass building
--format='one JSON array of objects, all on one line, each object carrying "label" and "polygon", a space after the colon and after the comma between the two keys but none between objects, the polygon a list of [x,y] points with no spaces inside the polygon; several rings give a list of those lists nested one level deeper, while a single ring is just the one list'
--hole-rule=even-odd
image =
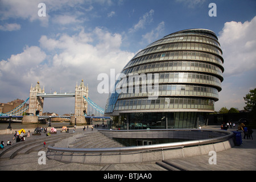
[{"label": "tall white cloud right of the rounded glass building", "polygon": [[226,22],[220,32],[219,42],[224,57],[224,82],[216,102],[216,110],[226,106],[245,106],[243,97],[255,88],[256,70],[256,16],[251,21]]}]

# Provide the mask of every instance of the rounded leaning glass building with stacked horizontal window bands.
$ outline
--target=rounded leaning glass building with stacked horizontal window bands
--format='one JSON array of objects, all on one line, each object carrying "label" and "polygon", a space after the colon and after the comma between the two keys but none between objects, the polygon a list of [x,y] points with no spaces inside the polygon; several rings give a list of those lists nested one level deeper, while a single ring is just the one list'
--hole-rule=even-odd
[{"label": "rounded leaning glass building with stacked horizontal window bands", "polygon": [[221,91],[222,51],[213,31],[189,29],[164,36],[138,52],[109,94],[112,129],[203,126]]}]

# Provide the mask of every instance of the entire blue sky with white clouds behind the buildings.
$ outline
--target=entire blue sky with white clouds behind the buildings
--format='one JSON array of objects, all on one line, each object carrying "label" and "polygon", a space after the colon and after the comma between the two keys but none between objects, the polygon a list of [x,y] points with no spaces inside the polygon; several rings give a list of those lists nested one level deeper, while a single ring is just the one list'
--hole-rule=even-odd
[{"label": "entire blue sky with white clouds behind the buildings", "polygon": [[[256,88],[255,0],[0,0],[0,102],[26,100],[38,81],[46,93],[64,93],[84,80],[89,98],[105,109],[109,94],[98,92],[98,75],[110,80],[111,70],[117,75],[148,44],[189,28],[212,30],[221,44],[215,110],[242,110]],[[74,108],[74,98],[44,100],[44,111]]]}]

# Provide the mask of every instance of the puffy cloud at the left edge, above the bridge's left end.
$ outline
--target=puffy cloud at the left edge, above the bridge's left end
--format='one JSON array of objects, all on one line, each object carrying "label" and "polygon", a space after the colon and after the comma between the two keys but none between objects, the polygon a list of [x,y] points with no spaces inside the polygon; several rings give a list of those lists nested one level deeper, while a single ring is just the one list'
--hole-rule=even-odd
[{"label": "puffy cloud at the left edge, above the bridge's left end", "polygon": [[[3,98],[8,98],[10,92],[6,88],[14,88],[16,95],[23,94],[24,85],[30,80],[37,80],[40,64],[46,59],[39,47],[26,46],[22,53],[11,55],[7,60],[0,61],[0,93]],[[42,66],[42,65],[41,65]],[[19,90],[20,92],[17,92]]]}]

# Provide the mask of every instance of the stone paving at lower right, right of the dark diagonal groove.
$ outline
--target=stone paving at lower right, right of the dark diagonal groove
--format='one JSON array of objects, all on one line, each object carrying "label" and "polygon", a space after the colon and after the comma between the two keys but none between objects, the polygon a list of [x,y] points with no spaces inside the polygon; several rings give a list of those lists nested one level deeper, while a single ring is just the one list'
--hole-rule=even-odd
[{"label": "stone paving at lower right, right of the dark diagonal groove", "polygon": [[[254,146],[255,141],[243,140],[243,146]],[[255,171],[256,149],[235,146],[226,151],[217,152],[217,164],[209,164],[209,155],[167,160],[189,171]]]}]

